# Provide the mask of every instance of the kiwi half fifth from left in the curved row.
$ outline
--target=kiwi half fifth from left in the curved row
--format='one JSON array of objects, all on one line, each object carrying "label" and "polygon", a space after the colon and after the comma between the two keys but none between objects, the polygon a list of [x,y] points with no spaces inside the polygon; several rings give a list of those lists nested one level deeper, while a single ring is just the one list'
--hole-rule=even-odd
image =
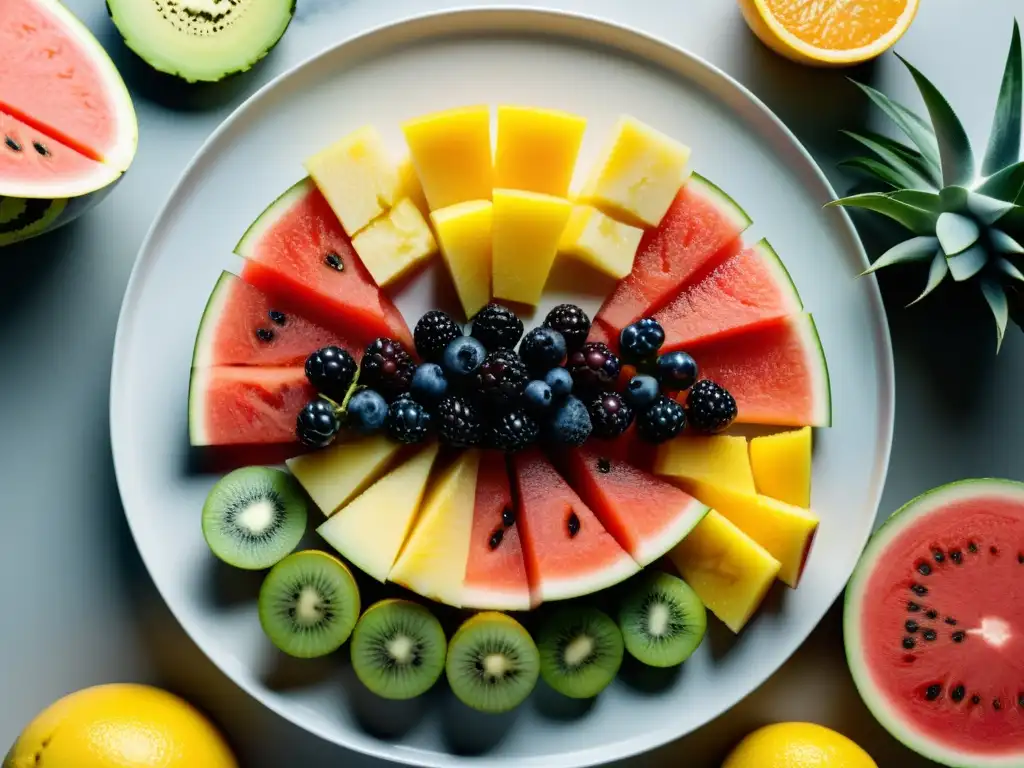
[{"label": "kiwi half fifth from left in the curved row", "polygon": [[590,698],[615,679],[623,664],[623,633],[597,608],[557,608],[537,635],[544,682],[570,698]]}]

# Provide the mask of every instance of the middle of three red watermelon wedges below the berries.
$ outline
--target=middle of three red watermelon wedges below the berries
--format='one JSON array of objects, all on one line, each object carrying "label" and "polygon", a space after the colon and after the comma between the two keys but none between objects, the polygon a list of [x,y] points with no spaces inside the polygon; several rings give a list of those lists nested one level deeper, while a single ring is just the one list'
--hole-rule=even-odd
[{"label": "middle of three red watermelon wedges below the berries", "polygon": [[535,604],[589,595],[640,568],[536,449],[515,455],[516,525]]}]

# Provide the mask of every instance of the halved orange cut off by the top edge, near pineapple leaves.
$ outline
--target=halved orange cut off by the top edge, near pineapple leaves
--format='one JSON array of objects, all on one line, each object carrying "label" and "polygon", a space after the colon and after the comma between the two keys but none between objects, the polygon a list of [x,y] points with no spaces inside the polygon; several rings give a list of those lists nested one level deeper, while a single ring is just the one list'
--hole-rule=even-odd
[{"label": "halved orange cut off by the top edge, near pineapple leaves", "polygon": [[843,67],[884,53],[907,31],[920,0],[739,0],[762,42],[786,58]]}]

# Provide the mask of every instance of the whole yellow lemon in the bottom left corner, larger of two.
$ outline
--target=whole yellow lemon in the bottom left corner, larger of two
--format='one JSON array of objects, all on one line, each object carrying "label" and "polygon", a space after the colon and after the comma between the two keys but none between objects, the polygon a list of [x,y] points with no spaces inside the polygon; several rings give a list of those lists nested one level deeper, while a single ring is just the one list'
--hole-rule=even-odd
[{"label": "whole yellow lemon in the bottom left corner, larger of two", "polygon": [[44,710],[3,768],[238,768],[220,733],[182,699],[145,685],[100,685]]}]

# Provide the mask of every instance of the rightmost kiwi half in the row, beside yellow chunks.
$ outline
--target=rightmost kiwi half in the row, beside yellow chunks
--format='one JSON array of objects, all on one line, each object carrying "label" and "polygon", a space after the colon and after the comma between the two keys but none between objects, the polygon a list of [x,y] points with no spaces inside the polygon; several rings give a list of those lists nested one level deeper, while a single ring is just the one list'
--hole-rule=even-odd
[{"label": "rightmost kiwi half in the row, beside yellow chunks", "polygon": [[652,573],[630,591],[618,611],[618,628],[630,655],[650,667],[675,667],[700,645],[708,611],[686,582]]}]

